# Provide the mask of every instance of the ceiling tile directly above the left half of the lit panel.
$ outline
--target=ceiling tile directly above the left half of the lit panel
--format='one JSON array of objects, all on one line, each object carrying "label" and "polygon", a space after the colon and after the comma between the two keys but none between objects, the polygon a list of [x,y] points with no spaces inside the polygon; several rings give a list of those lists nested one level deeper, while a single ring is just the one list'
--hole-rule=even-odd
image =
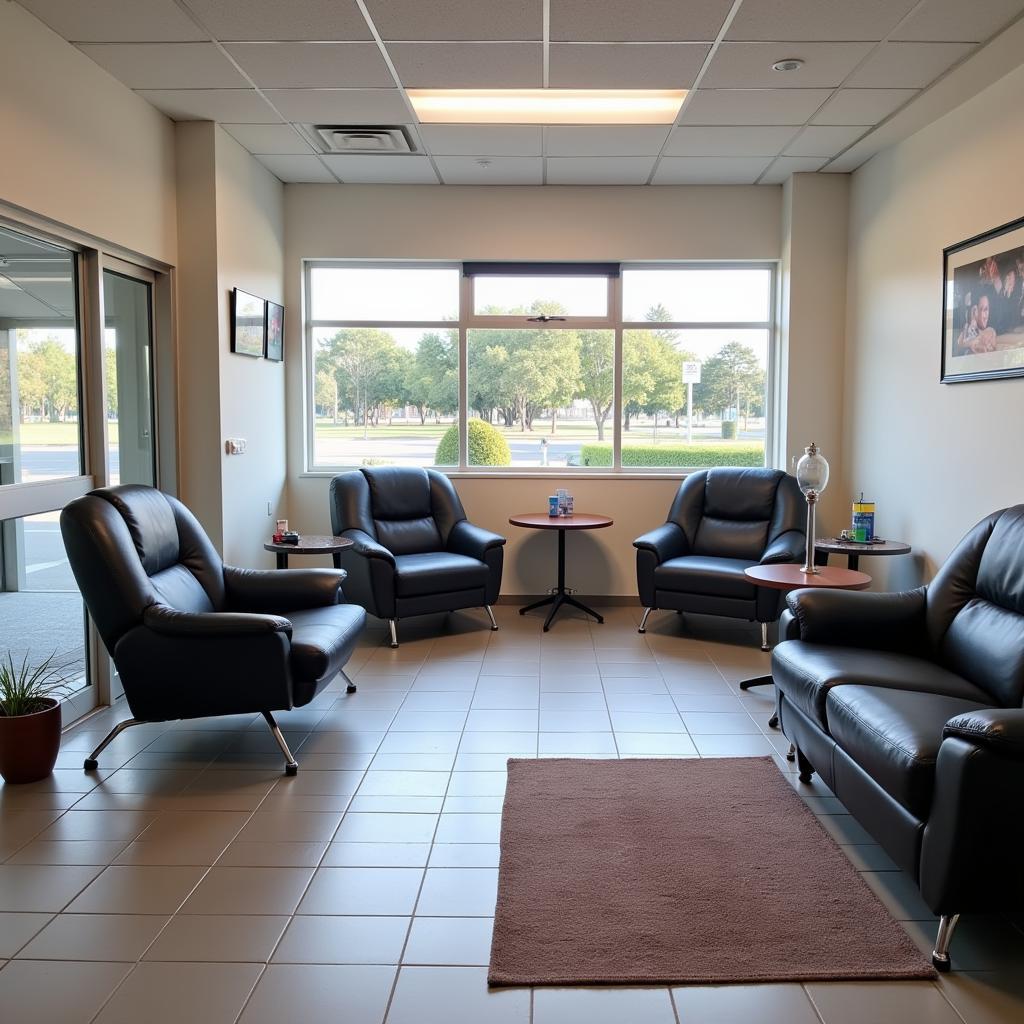
[{"label": "ceiling tile directly above the left half of the lit panel", "polygon": [[539,89],[540,43],[392,43],[388,53],[408,89]]}]

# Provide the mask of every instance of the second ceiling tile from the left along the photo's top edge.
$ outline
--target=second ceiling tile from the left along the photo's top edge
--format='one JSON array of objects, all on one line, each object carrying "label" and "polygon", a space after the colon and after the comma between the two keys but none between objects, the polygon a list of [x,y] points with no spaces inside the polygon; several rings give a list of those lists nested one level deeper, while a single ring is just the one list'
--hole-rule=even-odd
[{"label": "second ceiling tile from the left along the photo's top edge", "polygon": [[355,0],[187,0],[221,42],[372,39]]}]

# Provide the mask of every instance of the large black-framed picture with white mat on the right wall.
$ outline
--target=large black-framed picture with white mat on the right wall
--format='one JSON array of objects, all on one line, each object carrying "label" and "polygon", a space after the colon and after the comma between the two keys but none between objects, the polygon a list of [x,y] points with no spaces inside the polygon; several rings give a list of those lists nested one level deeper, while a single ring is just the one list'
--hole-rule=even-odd
[{"label": "large black-framed picture with white mat on the right wall", "polygon": [[942,383],[1024,377],[1024,217],[942,257]]}]

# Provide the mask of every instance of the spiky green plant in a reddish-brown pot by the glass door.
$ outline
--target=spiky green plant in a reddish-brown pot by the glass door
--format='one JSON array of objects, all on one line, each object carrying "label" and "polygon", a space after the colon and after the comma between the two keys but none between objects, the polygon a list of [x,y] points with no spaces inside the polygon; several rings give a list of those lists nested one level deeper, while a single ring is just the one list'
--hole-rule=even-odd
[{"label": "spiky green plant in a reddish-brown pot by the glass door", "polygon": [[67,690],[51,654],[15,665],[0,660],[0,775],[6,782],[38,782],[53,771],[60,750],[60,701]]}]

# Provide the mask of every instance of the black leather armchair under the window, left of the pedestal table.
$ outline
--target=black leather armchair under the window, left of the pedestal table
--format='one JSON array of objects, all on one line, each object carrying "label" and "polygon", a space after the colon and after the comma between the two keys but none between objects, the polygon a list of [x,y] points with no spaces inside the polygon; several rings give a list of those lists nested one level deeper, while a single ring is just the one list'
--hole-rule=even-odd
[{"label": "black leather armchair under the window, left of the pedestal table", "polygon": [[452,481],[432,469],[375,466],[331,481],[331,525],[354,546],[334,556],[346,592],[386,618],[391,646],[409,615],[490,605],[502,586],[505,538],[466,519]]}]

